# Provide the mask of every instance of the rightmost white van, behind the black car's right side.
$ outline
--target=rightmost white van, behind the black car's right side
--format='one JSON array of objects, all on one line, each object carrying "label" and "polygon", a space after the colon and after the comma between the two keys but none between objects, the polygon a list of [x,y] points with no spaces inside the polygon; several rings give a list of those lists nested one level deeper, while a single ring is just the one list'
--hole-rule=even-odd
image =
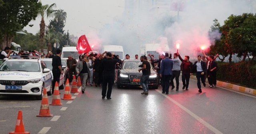
[{"label": "rightmost white van, behind the black car's right side", "polygon": [[[161,51],[161,53],[158,53]],[[142,44],[140,46],[140,56],[148,56],[148,54],[154,55],[154,58],[158,59],[160,54],[170,53],[170,48],[167,44]],[[148,56],[148,58],[150,58]]]}]

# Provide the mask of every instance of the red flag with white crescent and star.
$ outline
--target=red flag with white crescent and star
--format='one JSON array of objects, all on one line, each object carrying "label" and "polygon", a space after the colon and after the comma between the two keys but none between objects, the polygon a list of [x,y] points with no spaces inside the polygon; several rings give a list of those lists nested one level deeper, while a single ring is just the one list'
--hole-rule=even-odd
[{"label": "red flag with white crescent and star", "polygon": [[78,54],[92,51],[85,35],[79,37],[76,45],[76,50],[78,51]]}]

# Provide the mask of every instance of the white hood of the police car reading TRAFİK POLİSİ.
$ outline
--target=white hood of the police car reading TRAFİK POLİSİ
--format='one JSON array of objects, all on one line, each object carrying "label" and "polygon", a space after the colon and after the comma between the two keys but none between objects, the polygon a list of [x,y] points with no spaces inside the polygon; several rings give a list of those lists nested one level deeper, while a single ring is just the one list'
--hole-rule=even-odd
[{"label": "white hood of the police car reading TRAF\u0130K POL\u0130S\u0130", "polygon": [[22,71],[1,71],[0,77],[14,77],[14,78],[34,78],[39,76],[41,72],[22,72]]}]

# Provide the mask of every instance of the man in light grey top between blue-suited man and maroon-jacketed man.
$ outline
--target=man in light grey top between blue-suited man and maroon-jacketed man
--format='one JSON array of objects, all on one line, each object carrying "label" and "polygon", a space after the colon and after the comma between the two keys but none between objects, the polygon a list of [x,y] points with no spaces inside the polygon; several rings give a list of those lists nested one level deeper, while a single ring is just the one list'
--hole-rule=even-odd
[{"label": "man in light grey top between blue-suited man and maroon-jacketed man", "polygon": [[173,90],[175,88],[174,86],[174,82],[173,82],[173,79],[175,78],[176,80],[176,91],[179,90],[179,85],[180,85],[180,82],[179,82],[179,77],[180,77],[180,60],[178,59],[178,54],[177,53],[174,53],[173,54],[173,68],[172,68],[172,78],[171,78],[171,85],[172,85],[172,89]]}]

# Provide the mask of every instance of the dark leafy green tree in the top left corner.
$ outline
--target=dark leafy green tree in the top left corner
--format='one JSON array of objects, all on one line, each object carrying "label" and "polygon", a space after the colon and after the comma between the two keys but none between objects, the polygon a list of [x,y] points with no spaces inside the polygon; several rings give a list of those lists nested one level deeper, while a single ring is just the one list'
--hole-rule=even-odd
[{"label": "dark leafy green tree in the top left corner", "polygon": [[36,19],[41,4],[38,0],[0,0],[0,6],[0,40],[3,48],[10,46],[17,30]]}]

